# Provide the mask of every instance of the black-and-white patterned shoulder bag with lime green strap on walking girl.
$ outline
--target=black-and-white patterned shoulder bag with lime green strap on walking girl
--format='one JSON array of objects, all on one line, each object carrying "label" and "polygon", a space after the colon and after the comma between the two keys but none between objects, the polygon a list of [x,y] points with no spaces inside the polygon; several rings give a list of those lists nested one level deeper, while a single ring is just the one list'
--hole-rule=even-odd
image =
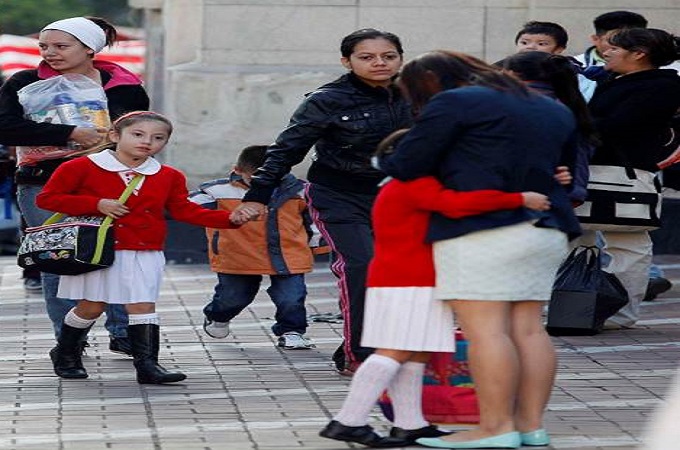
[{"label": "black-and-white patterned shoulder bag with lime green strap on walking girl", "polygon": [[[135,175],[118,201],[125,203],[142,178],[144,175]],[[26,229],[17,263],[24,269],[57,275],[80,275],[110,267],[115,255],[112,222],[108,216],[66,217],[56,213],[42,225]]]}]

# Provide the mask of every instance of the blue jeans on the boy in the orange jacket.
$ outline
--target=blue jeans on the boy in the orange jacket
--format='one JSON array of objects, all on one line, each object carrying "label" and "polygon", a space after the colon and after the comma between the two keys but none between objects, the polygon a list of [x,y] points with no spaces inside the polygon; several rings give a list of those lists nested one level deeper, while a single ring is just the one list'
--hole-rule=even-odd
[{"label": "blue jeans on the boy in the orange jacket", "polygon": [[[304,334],[307,331],[305,276],[270,275],[267,294],[276,305],[276,323],[272,332],[281,336],[288,331]],[[215,322],[229,322],[250,305],[260,290],[262,275],[217,274],[218,283],[212,301],[205,305],[203,314]]]}]

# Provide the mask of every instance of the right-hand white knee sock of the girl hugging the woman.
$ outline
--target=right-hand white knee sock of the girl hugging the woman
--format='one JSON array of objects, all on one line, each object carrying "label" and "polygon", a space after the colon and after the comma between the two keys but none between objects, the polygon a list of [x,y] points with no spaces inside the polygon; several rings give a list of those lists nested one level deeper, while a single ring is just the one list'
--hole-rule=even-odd
[{"label": "right-hand white knee sock of the girl hugging the woman", "polygon": [[394,426],[417,430],[429,425],[423,417],[423,373],[425,364],[408,361],[401,365],[389,387]]}]

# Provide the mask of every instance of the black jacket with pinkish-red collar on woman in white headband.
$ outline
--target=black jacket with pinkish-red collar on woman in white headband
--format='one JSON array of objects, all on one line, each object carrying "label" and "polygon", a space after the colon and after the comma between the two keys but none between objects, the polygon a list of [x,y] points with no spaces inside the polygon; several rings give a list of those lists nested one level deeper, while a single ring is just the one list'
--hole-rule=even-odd
[{"label": "black jacket with pinkish-red collar on woman in white headband", "polygon": [[[94,61],[99,70],[108,102],[109,116],[115,120],[126,112],[149,109],[149,96],[141,79],[127,69],[108,61]],[[18,91],[39,80],[60,75],[41,62],[37,69],[15,73],[0,88],[0,144],[66,145],[73,125],[38,123],[24,117]],[[16,174],[19,184],[45,184],[65,159],[45,160],[34,166],[23,166]]]}]

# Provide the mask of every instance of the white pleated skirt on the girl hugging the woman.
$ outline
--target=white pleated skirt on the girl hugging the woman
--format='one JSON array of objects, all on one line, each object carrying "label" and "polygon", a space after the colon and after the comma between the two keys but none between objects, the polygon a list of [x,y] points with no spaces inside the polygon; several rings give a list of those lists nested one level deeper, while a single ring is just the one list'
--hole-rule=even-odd
[{"label": "white pleated skirt on the girl hugging the woman", "polygon": [[364,347],[454,352],[453,312],[435,300],[431,287],[371,287],[366,290]]}]

